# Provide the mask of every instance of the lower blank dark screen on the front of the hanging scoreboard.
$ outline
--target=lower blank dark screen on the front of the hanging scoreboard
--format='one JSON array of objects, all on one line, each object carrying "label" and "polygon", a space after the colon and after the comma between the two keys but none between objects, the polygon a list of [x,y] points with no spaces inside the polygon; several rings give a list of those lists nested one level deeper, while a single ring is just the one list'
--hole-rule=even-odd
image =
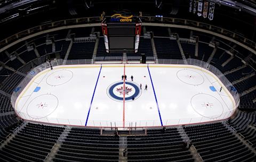
[{"label": "lower blank dark screen on the front of the hanging scoreboard", "polygon": [[110,36],[109,42],[109,48],[111,49],[134,49],[134,36]]}]

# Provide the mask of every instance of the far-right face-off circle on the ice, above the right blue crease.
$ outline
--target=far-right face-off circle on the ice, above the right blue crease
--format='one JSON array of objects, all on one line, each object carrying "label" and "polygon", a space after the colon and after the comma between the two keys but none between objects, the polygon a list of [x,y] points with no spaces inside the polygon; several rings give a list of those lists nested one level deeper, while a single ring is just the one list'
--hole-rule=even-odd
[{"label": "far-right face-off circle on the ice, above the right blue crease", "polygon": [[204,82],[204,77],[198,72],[193,70],[187,70],[187,69],[179,70],[177,72],[177,77],[180,81],[190,85],[194,85],[194,86],[203,84]]}]

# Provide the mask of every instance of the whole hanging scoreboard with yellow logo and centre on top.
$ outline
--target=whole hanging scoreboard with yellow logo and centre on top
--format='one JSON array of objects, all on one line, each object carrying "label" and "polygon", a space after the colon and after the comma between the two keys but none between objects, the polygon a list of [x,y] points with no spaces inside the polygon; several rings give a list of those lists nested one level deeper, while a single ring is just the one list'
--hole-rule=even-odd
[{"label": "whole hanging scoreboard with yellow logo and centre on top", "polygon": [[138,52],[141,19],[133,15],[102,14],[102,32],[107,53]]}]

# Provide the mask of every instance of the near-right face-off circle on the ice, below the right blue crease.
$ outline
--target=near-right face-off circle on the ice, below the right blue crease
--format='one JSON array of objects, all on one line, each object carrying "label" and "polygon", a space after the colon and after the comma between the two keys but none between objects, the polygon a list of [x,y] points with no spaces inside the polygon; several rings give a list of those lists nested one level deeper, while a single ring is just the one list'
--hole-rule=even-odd
[{"label": "near-right face-off circle on the ice, below the right blue crease", "polygon": [[223,106],[220,101],[205,93],[194,95],[190,104],[197,114],[206,118],[218,118],[223,114]]}]

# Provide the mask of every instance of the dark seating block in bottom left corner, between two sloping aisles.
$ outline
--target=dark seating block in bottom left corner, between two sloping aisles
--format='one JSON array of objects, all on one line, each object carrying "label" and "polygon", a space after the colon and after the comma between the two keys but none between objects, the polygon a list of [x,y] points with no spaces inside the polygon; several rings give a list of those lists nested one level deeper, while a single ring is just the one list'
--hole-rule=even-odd
[{"label": "dark seating block in bottom left corner, between two sloping aisles", "polygon": [[28,123],[0,150],[1,161],[44,161],[65,128]]}]

